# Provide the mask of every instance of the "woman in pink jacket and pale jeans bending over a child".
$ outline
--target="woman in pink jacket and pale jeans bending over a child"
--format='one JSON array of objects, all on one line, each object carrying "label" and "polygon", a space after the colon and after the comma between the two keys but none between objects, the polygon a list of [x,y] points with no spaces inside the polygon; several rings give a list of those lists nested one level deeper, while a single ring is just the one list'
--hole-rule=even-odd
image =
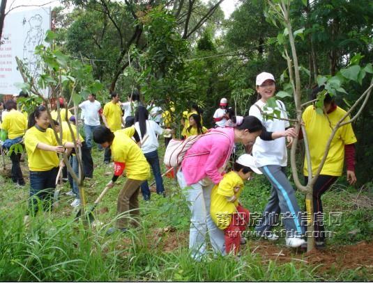
[{"label": "woman in pink jacket and pale jeans bending over a child", "polygon": [[185,193],[192,216],[190,218],[189,248],[197,261],[206,253],[206,228],[215,252],[225,254],[224,233],[210,216],[211,190],[222,180],[224,166],[229,160],[234,143],[249,145],[261,135],[269,140],[272,133],[262,133],[259,119],[248,116],[238,119],[236,127],[212,129],[190,147],[178,170],[178,184],[189,187]]}]

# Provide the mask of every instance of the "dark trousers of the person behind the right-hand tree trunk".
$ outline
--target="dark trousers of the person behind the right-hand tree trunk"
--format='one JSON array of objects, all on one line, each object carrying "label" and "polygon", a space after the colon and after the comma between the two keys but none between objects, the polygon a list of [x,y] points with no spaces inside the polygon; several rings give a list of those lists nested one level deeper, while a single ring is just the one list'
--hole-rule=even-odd
[{"label": "dark trousers of the person behind the right-hand tree trunk", "polygon": [[[338,179],[335,176],[319,175],[316,183],[314,184],[312,204],[314,207],[314,235],[316,241],[325,241],[325,229],[323,227],[324,217],[323,217],[323,204],[321,202],[321,196],[323,193],[328,191],[330,186]],[[305,182],[308,181],[308,177],[305,177]],[[307,209],[305,209],[307,211]]]}]

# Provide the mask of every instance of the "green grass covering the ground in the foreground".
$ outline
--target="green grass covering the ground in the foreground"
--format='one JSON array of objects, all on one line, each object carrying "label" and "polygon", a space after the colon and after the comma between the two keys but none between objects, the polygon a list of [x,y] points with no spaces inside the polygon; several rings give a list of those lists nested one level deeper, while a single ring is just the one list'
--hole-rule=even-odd
[{"label": "green grass covering the ground in the foreground", "polygon": [[[112,168],[101,165],[102,152],[93,151],[98,164],[94,178],[85,182],[86,198],[93,204],[112,175]],[[8,161],[9,162],[9,161]],[[9,164],[9,163],[8,163]],[[10,165],[8,165],[10,166]],[[164,170],[164,168],[162,168]],[[107,193],[96,211],[104,223],[99,227],[74,221],[76,209],[72,199],[61,195],[60,207],[53,212],[38,213],[28,227],[23,224],[29,186],[13,188],[8,179],[0,177],[0,280],[1,281],[314,281],[372,280],[369,268],[340,270],[331,268],[320,273],[319,267],[301,259],[282,262],[253,252],[257,240],[249,239],[242,257],[213,257],[195,262],[188,251],[189,216],[181,190],[173,180],[165,179],[167,197],[152,195],[150,202],[140,201],[141,227],[126,234],[106,236],[114,225],[116,197],[121,184]],[[68,191],[63,186],[62,193]],[[248,182],[241,201],[250,211],[262,212],[270,187],[264,177]],[[369,195],[369,190],[363,194]],[[336,187],[326,193],[326,212],[335,209],[344,213],[341,226],[331,226],[335,232],[332,245],[357,243],[372,239],[372,211],[353,209],[348,197],[357,195],[353,188]],[[303,196],[297,193],[299,203]],[[172,229],[173,232],[170,232]],[[250,228],[252,229],[252,228]],[[347,236],[347,232],[360,232]],[[276,247],[284,248],[280,242]],[[298,257],[299,258],[299,257]]]}]

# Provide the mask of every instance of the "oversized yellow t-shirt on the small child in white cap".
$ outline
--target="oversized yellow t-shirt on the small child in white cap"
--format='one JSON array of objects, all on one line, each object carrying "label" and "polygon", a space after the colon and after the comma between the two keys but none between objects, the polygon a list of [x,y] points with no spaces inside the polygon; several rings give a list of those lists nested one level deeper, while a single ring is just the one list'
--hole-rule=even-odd
[{"label": "oversized yellow t-shirt on the small child in white cap", "polygon": [[[237,193],[234,188],[240,187]],[[231,223],[231,215],[236,212],[238,207],[238,197],[243,188],[243,179],[234,171],[228,172],[223,176],[222,181],[213,187],[211,192],[210,214],[213,222],[219,229],[226,229]],[[236,195],[234,202],[228,202],[227,197]]]}]

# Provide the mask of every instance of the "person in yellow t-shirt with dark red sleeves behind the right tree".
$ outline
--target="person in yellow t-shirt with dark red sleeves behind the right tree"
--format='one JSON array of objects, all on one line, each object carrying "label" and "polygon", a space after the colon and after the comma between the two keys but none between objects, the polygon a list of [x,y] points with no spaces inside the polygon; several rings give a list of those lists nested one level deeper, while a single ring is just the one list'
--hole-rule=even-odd
[{"label": "person in yellow t-shirt with dark red sleeves behind the right tree", "polygon": [[[324,87],[320,86],[314,88],[312,91],[312,99],[316,99],[319,92],[323,91]],[[326,149],[326,144],[330,134],[335,127],[335,124],[342,119],[346,114],[342,108],[335,104],[333,97],[327,93],[323,101],[324,113],[317,113],[313,105],[308,106],[303,112],[302,118],[305,123],[305,131],[307,133],[308,145],[310,147],[312,176],[316,173],[317,168],[321,163],[323,154]],[[349,121],[350,118],[345,118],[344,122]],[[319,178],[314,184],[313,188],[313,207],[314,213],[322,215],[323,207],[321,203],[321,196],[328,191],[330,186],[342,175],[344,156],[347,160],[347,181],[353,185],[356,183],[355,175],[355,147],[356,137],[350,124],[345,124],[337,130],[328,155],[326,162],[320,172]],[[307,157],[305,157],[303,174],[305,181],[308,177]],[[316,235],[316,247],[324,248],[326,237],[324,235],[322,221],[315,221],[314,232]]]}]

